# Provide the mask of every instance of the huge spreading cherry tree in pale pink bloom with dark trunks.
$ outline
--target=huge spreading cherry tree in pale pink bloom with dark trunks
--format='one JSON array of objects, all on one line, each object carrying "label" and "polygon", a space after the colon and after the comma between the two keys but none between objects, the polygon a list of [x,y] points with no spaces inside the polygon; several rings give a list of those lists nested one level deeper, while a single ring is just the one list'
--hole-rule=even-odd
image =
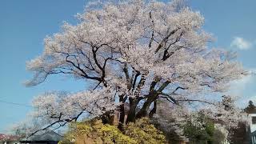
[{"label": "huge spreading cherry tree in pale pink bloom with dark trunks", "polygon": [[122,125],[125,102],[126,122],[134,122],[153,116],[158,99],[170,102],[166,110],[173,113],[197,107],[212,118],[229,115],[218,114],[225,111],[220,93],[246,71],[233,53],[208,47],[213,38],[202,29],[198,11],[179,0],[95,2],[77,18],[77,25],[64,23],[61,32],[45,38],[42,55],[27,62],[34,78],[26,85],[69,75],[84,79],[90,89],[35,98],[38,130],[113,110],[120,111]]}]

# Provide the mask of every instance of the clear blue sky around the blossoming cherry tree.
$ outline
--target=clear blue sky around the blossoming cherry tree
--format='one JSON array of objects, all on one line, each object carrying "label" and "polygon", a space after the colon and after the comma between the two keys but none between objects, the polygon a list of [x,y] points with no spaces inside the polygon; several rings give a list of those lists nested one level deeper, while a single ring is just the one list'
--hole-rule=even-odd
[{"label": "clear blue sky around the blossoming cherry tree", "polygon": [[[212,45],[238,51],[238,60],[247,69],[256,70],[256,1],[189,3],[204,15],[205,30],[217,39]],[[0,133],[26,117],[34,96],[49,90],[78,91],[86,87],[85,82],[56,77],[39,86],[22,85],[32,76],[26,71],[26,61],[42,53],[43,38],[58,32],[63,21],[75,23],[74,14],[81,13],[85,4],[86,0],[0,1]],[[256,78],[250,76],[232,86],[232,92],[245,97],[241,106],[256,96],[255,83]]]}]

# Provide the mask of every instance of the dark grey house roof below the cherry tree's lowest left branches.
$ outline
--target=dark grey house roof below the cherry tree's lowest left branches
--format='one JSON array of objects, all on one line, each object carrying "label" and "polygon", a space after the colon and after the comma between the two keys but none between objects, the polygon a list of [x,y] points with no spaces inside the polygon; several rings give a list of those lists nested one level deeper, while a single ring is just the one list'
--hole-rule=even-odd
[{"label": "dark grey house roof below the cherry tree's lowest left branches", "polygon": [[47,131],[44,134],[33,135],[30,138],[24,139],[25,141],[60,141],[62,136],[54,131]]}]

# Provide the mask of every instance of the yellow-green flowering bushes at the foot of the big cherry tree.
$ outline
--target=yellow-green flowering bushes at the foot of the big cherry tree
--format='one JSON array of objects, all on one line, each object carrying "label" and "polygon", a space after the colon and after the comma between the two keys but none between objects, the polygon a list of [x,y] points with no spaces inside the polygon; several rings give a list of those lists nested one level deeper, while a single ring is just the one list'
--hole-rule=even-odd
[{"label": "yellow-green flowering bushes at the foot of the big cherry tree", "polygon": [[75,143],[166,143],[162,132],[150,124],[148,118],[141,118],[137,122],[130,122],[124,131],[116,126],[104,125],[100,120],[89,122],[75,122],[60,144]]}]

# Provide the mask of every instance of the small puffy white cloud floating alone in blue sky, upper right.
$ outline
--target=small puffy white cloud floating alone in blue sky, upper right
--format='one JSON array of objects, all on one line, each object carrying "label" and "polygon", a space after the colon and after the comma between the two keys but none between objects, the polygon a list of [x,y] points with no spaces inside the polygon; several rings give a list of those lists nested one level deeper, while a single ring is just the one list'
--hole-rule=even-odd
[{"label": "small puffy white cloud floating alone in blue sky, upper right", "polygon": [[231,47],[235,47],[240,50],[248,50],[252,45],[252,42],[249,42],[241,37],[234,37],[233,41],[230,44]]}]

